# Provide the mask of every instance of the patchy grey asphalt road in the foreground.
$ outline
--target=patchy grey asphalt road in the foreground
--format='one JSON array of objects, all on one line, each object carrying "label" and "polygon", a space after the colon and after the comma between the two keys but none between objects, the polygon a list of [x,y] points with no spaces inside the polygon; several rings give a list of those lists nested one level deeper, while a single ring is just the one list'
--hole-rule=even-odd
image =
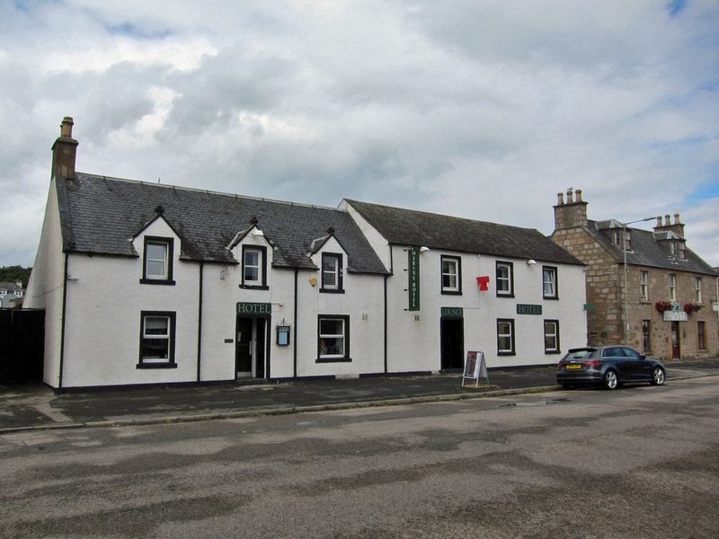
[{"label": "patchy grey asphalt road in the foreground", "polygon": [[719,376],[0,437],[12,537],[715,537]]}]

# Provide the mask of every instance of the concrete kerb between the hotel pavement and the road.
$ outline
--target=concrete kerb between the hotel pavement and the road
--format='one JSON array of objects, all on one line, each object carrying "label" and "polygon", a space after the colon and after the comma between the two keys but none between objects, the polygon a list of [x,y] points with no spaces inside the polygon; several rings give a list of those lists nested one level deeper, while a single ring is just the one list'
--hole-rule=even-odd
[{"label": "concrete kerb between the hotel pavement and the road", "polygon": [[[480,388],[481,389],[481,388]],[[544,387],[528,387],[522,389],[499,389],[484,391],[482,393],[450,393],[439,395],[426,395],[418,397],[404,397],[400,399],[383,399],[379,401],[360,402],[334,402],[329,404],[313,404],[308,406],[287,406],[280,408],[260,408],[256,410],[209,412],[207,414],[176,415],[155,418],[136,418],[132,420],[102,420],[102,421],[77,421],[62,423],[46,423],[42,425],[28,425],[23,427],[9,427],[0,429],[0,435],[13,434],[17,432],[28,432],[32,430],[65,430],[65,429],[98,429],[135,427],[145,425],[160,425],[164,423],[189,423],[194,421],[209,420],[233,420],[242,418],[253,418],[262,416],[289,415],[293,413],[311,413],[317,411],[339,411],[357,408],[377,408],[381,406],[401,406],[405,404],[418,404],[422,402],[450,402],[465,401],[470,399],[482,399],[486,397],[497,397],[503,395],[515,395],[523,393],[546,393],[561,389],[559,385],[546,385]]]}]

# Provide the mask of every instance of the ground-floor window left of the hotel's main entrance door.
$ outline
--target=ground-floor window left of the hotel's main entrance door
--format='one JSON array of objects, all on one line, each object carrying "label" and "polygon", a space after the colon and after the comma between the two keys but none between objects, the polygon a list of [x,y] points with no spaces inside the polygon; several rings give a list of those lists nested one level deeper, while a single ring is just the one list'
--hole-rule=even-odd
[{"label": "ground-floor window left of the hotel's main entrance door", "polygon": [[177,367],[174,362],[175,314],[143,311],[138,368]]}]

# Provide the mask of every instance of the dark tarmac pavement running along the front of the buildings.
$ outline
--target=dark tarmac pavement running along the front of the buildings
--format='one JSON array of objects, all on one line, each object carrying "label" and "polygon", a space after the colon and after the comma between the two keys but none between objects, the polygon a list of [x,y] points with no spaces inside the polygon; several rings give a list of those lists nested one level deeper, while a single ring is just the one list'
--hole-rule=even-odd
[{"label": "dark tarmac pavement running along the front of the buildings", "polygon": [[[667,379],[719,374],[719,358],[665,363]],[[200,386],[54,393],[47,385],[0,385],[0,434],[215,420],[255,415],[449,401],[560,389],[555,367],[489,370],[489,379],[461,374],[309,378]],[[487,383],[488,382],[488,383]]]}]

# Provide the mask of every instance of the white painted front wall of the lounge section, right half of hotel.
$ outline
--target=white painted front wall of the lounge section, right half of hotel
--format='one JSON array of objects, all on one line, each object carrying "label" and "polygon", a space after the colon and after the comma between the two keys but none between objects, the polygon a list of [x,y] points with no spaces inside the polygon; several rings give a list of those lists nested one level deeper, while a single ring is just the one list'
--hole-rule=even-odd
[{"label": "white painted front wall of the lounge section, right half of hotel", "polygon": [[[484,351],[488,367],[515,367],[555,363],[561,358],[546,354],[544,321],[559,320],[560,348],[586,344],[584,271],[581,266],[550,263],[558,268],[559,300],[542,297],[542,263],[528,265],[512,260],[476,254],[439,252],[420,255],[420,311],[408,311],[407,252],[393,246],[394,275],[388,280],[388,358],[390,372],[437,371],[440,357],[441,307],[461,307],[464,313],[465,352]],[[441,294],[442,254],[462,258],[462,295]],[[514,263],[515,296],[497,297],[495,262]],[[489,276],[489,289],[480,292],[476,278]],[[542,315],[517,314],[517,304],[542,305]],[[515,322],[514,356],[497,353],[497,319]]]}]

